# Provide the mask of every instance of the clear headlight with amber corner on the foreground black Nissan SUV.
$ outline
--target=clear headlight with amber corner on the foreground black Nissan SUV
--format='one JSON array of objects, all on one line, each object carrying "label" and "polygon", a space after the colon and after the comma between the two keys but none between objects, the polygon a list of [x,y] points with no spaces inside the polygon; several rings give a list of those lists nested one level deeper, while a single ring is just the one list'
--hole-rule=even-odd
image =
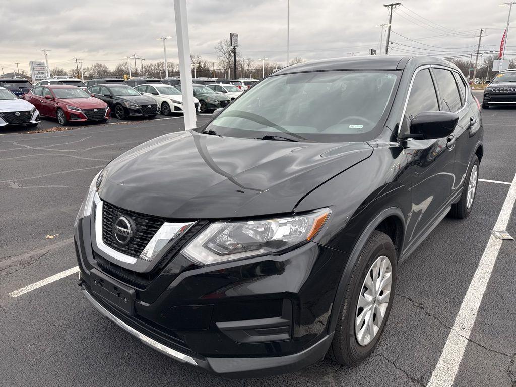
[{"label": "clear headlight with amber corner on the foreground black Nissan SUV", "polygon": [[329,215],[330,209],[322,208],[288,218],[216,222],[191,241],[182,253],[200,265],[278,254],[311,240]]}]

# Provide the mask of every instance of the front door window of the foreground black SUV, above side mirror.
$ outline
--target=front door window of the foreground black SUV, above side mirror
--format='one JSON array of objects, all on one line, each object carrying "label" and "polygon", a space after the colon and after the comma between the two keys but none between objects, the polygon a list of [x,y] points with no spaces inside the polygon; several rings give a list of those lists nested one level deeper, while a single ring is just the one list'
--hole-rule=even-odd
[{"label": "front door window of the foreground black SUV, above side mirror", "polygon": [[428,69],[421,70],[414,78],[405,117],[411,120],[423,111],[439,111],[436,89],[433,87],[432,77]]}]

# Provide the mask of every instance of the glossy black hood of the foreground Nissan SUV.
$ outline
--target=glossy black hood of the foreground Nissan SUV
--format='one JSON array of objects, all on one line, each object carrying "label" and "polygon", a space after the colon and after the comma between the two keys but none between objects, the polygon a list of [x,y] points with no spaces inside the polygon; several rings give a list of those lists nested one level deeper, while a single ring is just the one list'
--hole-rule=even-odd
[{"label": "glossy black hood of the foreground Nissan SUV", "polygon": [[372,153],[367,142],[172,133],[109,163],[99,195],[130,211],[175,219],[290,213],[312,189]]}]

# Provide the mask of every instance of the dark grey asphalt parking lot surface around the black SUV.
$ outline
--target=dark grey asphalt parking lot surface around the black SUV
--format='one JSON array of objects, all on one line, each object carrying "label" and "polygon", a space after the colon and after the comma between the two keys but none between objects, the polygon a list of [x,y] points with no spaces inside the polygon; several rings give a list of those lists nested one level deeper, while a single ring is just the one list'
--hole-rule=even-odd
[{"label": "dark grey asphalt parking lot surface around the black SUV", "polygon": [[[96,312],[76,286],[72,225],[93,176],[137,144],[182,130],[183,119],[0,132],[0,384],[516,386],[516,242],[503,241],[494,255],[489,250],[490,230],[499,216],[511,215],[516,109],[485,110],[482,117],[485,155],[473,213],[445,218],[400,266],[390,320],[373,356],[353,369],[324,360],[294,374],[236,381],[143,346]],[[208,118],[198,116],[198,123]],[[58,126],[43,121],[38,129],[47,123]],[[516,236],[514,216],[507,231]],[[457,324],[475,303],[471,326]]]}]

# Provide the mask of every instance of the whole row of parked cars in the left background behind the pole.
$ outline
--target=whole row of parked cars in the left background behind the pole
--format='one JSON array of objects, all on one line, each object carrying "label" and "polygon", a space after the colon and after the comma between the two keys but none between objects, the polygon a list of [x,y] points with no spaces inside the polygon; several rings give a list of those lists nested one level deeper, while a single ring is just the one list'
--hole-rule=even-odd
[{"label": "whole row of parked cars in the left background behind the pole", "polygon": [[[239,82],[249,85],[233,85],[223,83],[228,80],[212,78],[196,78],[194,82],[193,102],[200,112],[225,107],[252,86],[248,80]],[[25,90],[24,87],[23,91],[22,88],[0,86],[0,127],[22,124],[34,127],[41,116],[55,118],[59,124],[66,125],[69,122],[105,122],[111,114],[120,120],[153,118],[158,112],[165,116],[182,114],[180,83],[179,78],[97,78],[83,83],[76,78],[55,77],[40,80],[34,87],[29,84],[30,88]],[[18,86],[21,82],[17,80],[11,84]]]}]

